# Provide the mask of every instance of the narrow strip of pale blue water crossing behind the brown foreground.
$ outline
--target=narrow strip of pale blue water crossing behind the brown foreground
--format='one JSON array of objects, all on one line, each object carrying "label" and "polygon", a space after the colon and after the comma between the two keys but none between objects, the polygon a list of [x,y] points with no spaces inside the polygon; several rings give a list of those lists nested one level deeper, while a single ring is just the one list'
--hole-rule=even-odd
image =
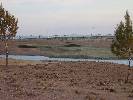
[{"label": "narrow strip of pale blue water crossing behind the brown foreground", "polygon": [[[5,55],[0,55],[5,58]],[[9,55],[9,58],[17,60],[31,60],[31,61],[96,61],[96,62],[111,62],[117,64],[128,65],[128,60],[97,60],[97,59],[72,59],[72,58],[49,58],[45,56],[27,56],[27,55]],[[131,66],[133,66],[133,60],[131,60]]]}]

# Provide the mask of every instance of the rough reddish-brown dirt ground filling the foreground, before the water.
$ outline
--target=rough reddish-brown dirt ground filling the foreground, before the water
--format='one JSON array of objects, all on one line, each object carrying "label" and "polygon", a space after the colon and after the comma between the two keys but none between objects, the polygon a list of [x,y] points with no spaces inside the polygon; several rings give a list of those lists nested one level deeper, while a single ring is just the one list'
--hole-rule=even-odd
[{"label": "rough reddish-brown dirt ground filling the foreground, before the water", "polygon": [[0,100],[133,100],[133,69],[125,65],[30,63],[0,65]]}]

